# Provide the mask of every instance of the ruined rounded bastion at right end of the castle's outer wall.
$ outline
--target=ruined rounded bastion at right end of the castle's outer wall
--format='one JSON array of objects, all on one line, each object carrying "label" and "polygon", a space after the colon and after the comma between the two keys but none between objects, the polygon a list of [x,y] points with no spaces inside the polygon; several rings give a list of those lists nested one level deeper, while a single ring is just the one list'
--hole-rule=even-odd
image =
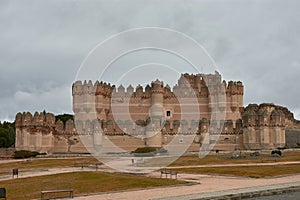
[{"label": "ruined rounded bastion at right end of the castle's outer wall", "polygon": [[299,121],[285,107],[250,104],[242,113],[243,144],[246,149],[275,149],[285,146],[285,130],[300,129]]}]

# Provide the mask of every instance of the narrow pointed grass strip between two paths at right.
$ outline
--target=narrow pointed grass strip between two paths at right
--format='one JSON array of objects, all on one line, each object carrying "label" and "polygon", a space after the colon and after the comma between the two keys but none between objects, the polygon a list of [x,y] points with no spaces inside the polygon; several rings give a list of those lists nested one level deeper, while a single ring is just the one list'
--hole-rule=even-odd
[{"label": "narrow pointed grass strip between two paths at right", "polygon": [[263,178],[300,173],[300,164],[272,165],[272,166],[239,166],[239,167],[204,167],[204,168],[178,168],[178,172],[198,174],[221,174],[234,176],[247,176]]}]

